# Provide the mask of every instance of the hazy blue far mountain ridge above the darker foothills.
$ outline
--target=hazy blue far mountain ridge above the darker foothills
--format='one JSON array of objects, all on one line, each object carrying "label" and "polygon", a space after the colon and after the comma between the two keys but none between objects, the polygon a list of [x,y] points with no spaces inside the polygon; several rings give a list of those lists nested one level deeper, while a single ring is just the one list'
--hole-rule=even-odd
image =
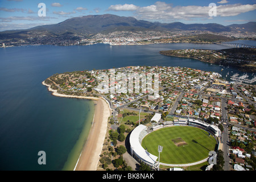
[{"label": "hazy blue far mountain ridge above the darker foothills", "polygon": [[64,32],[83,33],[83,34],[96,34],[102,31],[108,31],[117,27],[133,27],[136,29],[147,30],[162,30],[162,31],[174,31],[174,30],[198,30],[198,31],[211,31],[211,32],[230,32],[236,31],[237,28],[240,31],[256,32],[256,22],[249,22],[245,24],[232,24],[230,26],[223,26],[217,23],[194,23],[184,24],[181,22],[174,23],[159,23],[148,22],[146,20],[137,20],[133,17],[117,16],[112,14],[104,15],[86,15],[82,17],[75,17],[64,20],[57,24],[50,24],[44,26],[37,26],[29,28],[27,30],[11,30],[3,31],[2,33],[12,33],[18,31],[49,31],[53,34],[63,34]]}]

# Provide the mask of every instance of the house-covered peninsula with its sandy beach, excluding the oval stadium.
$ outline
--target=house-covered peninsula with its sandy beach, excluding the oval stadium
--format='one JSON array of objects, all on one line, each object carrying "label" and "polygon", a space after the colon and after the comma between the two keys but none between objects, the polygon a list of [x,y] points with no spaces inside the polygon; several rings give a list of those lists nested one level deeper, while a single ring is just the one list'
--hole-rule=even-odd
[{"label": "house-covered peninsula with its sandy beach, excluding the oval stadium", "polygon": [[[140,77],[132,80],[132,90],[138,89],[139,93],[127,92],[125,85],[121,86],[121,90],[118,89],[118,82],[129,80],[129,74],[134,73],[147,77],[150,74],[154,77],[158,75],[158,94],[142,92],[143,86],[138,84],[142,80]],[[104,74],[109,75],[109,78],[101,80],[100,77]],[[118,75],[124,76],[124,79],[120,79]],[[109,81],[108,85],[113,85],[115,92],[112,92],[111,87],[106,87],[108,85],[99,89],[102,81]],[[156,80],[154,78],[151,81]],[[129,154],[125,141],[139,124],[152,131],[156,127],[179,125],[184,118],[198,119],[214,123],[221,131],[228,129],[230,135],[226,133],[225,138],[229,146],[243,147],[248,156],[253,150],[251,146],[255,144],[255,140],[251,139],[255,132],[255,85],[229,82],[218,73],[181,67],[133,66],[116,68],[114,72],[113,69],[104,69],[58,73],[47,78],[43,84],[55,96],[97,100],[94,101],[97,105],[93,125],[75,170],[135,170],[137,162]],[[110,92],[102,92],[108,89]],[[160,117],[154,119],[155,115]],[[247,137],[241,139],[233,135],[237,128],[240,131],[246,130]],[[223,146],[229,147],[226,140]],[[241,142],[237,142],[238,140]],[[228,154],[230,151],[224,147],[221,150]],[[218,154],[221,155],[221,152]],[[225,155],[224,158],[229,156]],[[253,160],[248,160],[251,165],[255,165]],[[139,165],[141,169],[145,167],[143,164]],[[205,166],[207,162],[201,165]],[[166,168],[168,167],[162,167]],[[193,169],[200,170],[201,166]]]}]

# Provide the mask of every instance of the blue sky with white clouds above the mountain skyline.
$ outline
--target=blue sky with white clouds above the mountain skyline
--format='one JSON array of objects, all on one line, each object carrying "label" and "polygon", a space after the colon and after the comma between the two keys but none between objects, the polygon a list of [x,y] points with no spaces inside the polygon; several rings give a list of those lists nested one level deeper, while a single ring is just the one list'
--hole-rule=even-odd
[{"label": "blue sky with white clouds above the mountain skyline", "polygon": [[[39,3],[45,6],[38,6]],[[150,22],[227,26],[256,22],[256,0],[0,0],[0,31],[102,14],[132,16]]]}]

